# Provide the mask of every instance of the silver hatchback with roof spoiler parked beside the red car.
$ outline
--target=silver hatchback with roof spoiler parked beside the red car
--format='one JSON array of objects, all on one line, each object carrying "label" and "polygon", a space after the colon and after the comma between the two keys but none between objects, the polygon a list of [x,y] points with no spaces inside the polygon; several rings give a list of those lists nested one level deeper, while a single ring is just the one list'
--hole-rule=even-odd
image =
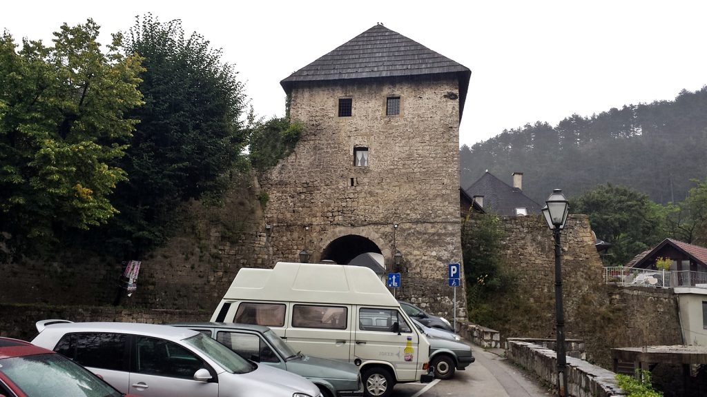
[{"label": "silver hatchback with roof spoiler parked beside the red car", "polygon": [[320,397],[315,384],[257,365],[187,328],[134,323],[37,322],[32,343],[142,397]]}]

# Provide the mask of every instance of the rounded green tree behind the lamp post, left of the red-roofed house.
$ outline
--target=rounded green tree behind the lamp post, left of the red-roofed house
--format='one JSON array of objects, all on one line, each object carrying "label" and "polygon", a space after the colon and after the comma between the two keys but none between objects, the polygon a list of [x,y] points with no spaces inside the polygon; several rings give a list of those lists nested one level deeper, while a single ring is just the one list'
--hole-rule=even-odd
[{"label": "rounded green tree behind the lamp post, left of the red-roofed house", "polygon": [[597,186],[571,199],[570,211],[588,215],[597,237],[612,244],[605,264],[624,265],[665,237],[665,208],[624,186]]}]

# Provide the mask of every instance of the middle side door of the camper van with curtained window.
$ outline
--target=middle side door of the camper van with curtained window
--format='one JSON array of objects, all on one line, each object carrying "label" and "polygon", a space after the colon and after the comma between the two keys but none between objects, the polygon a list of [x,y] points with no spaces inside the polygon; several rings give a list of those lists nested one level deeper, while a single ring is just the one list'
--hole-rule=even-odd
[{"label": "middle side door of the camper van with curtained window", "polygon": [[351,317],[347,306],[293,304],[287,344],[293,350],[333,360],[351,355]]}]

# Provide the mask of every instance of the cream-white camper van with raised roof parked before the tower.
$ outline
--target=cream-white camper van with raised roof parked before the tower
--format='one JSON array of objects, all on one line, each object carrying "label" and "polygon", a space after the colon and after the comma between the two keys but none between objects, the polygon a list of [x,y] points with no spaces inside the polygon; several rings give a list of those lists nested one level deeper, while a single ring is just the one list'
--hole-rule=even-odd
[{"label": "cream-white camper van with raised roof parked before the tower", "polygon": [[269,326],[294,350],[354,362],[367,396],[431,381],[430,344],[370,268],[279,262],[242,268],[211,321]]}]

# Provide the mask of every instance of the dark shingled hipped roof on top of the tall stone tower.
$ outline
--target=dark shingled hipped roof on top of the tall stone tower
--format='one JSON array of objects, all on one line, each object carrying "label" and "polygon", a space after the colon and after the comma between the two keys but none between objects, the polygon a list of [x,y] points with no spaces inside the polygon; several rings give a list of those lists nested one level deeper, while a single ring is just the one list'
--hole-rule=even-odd
[{"label": "dark shingled hipped roof on top of the tall stone tower", "polygon": [[459,79],[460,117],[472,72],[465,66],[375,25],[280,82],[286,93],[296,83],[454,73]]}]

